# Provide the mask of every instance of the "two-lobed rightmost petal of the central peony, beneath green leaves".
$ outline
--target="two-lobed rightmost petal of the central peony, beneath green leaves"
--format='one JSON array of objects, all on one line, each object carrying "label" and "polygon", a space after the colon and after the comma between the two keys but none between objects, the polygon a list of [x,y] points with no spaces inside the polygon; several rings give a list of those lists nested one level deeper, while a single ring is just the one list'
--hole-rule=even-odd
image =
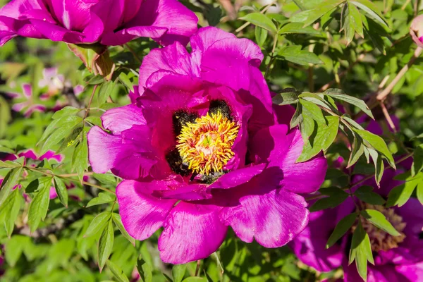
[{"label": "two-lobed rightmost petal of the central peony, beneath green leaves", "polygon": [[322,156],[295,163],[302,152],[300,130],[288,133],[287,125],[273,125],[259,130],[250,143],[256,161],[269,161],[269,167],[281,168],[283,189],[297,193],[311,193],[320,188],[326,174],[327,162]]}]

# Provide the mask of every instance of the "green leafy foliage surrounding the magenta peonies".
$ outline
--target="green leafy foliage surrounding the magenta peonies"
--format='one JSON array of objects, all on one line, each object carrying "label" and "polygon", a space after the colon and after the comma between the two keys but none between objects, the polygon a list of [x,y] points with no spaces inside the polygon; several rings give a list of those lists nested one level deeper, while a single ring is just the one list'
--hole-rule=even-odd
[{"label": "green leafy foliage surrounding the magenta peonies", "polygon": [[[312,211],[336,207],[347,197],[374,202],[374,193],[366,188],[349,194],[352,176],[362,174],[378,181],[384,164],[395,166],[392,154],[409,157],[413,152],[413,169],[403,176],[411,181],[390,195],[387,204],[401,205],[409,197],[423,201],[423,147],[419,140],[423,132],[423,63],[419,54],[415,56],[417,47],[409,36],[410,21],[423,10],[423,1],[182,2],[195,11],[200,26],[218,26],[262,47],[262,72],[271,90],[278,93],[274,103],[297,107],[291,126],[300,126],[303,137],[309,140],[300,160],[324,150],[330,164],[321,188],[324,197],[317,196]],[[5,3],[0,1],[1,6]],[[129,103],[128,92],[137,85],[142,57],[156,47],[151,39],[111,47],[116,71],[108,82],[89,73],[64,43],[16,38],[1,48],[0,156],[27,149],[40,156],[51,149],[63,154],[64,159],[60,163],[27,159],[24,163],[21,157],[0,162],[0,178],[5,178],[0,190],[0,220],[4,226],[0,228],[4,272],[0,280],[340,278],[342,270],[318,273],[299,262],[288,247],[265,249],[257,243],[242,243],[233,233],[228,233],[223,246],[208,259],[171,266],[159,259],[158,234],[139,242],[125,232],[114,195],[121,179],[91,172],[86,134],[92,125],[101,126],[99,116],[106,109]],[[407,73],[398,77],[407,64]],[[49,99],[42,99],[49,87],[40,86],[39,81],[43,69],[50,67],[57,68],[66,83],[50,92]],[[23,94],[24,83],[32,87],[31,97]],[[84,88],[79,95],[73,88],[77,85]],[[391,89],[386,91],[388,87]],[[11,97],[11,92],[20,95]],[[25,103],[20,111],[13,107],[18,103]],[[25,110],[34,105],[43,106],[45,112],[25,116]],[[389,130],[391,116],[399,118],[396,130]],[[362,128],[373,117],[384,129],[381,137]],[[348,173],[336,168],[334,162],[339,157],[348,160],[349,167],[355,166]],[[372,161],[368,164],[369,159]],[[51,183],[58,195],[53,200],[49,200]],[[68,190],[71,184],[75,188]],[[20,189],[13,190],[15,185]],[[369,218],[365,214],[356,216]],[[369,220],[382,229],[390,228],[381,225],[383,219]],[[332,243],[343,234],[336,232]],[[353,257],[360,262],[371,261],[372,256],[360,252],[367,247],[353,245]],[[359,267],[359,271],[365,276],[365,268]]]}]

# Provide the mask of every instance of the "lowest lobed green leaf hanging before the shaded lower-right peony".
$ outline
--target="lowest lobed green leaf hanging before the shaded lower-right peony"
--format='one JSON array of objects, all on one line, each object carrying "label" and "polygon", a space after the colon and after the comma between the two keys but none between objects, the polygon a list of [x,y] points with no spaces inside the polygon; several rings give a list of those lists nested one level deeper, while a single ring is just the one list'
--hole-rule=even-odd
[{"label": "lowest lobed green leaf hanging before the shaded lower-right peony", "polygon": [[353,233],[349,264],[354,260],[358,274],[360,274],[364,281],[367,281],[367,261],[374,264],[374,260],[369,235],[364,231],[360,221],[358,221],[357,228],[355,228]]}]

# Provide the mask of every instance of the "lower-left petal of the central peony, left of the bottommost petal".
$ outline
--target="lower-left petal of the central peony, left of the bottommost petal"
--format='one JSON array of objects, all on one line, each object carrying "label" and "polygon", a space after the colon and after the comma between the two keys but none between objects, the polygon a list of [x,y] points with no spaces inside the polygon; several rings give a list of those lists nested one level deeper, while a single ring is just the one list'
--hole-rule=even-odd
[{"label": "lower-left petal of the central peony, left of the bottommost petal", "polygon": [[176,203],[176,200],[163,200],[149,195],[150,185],[123,180],[116,187],[123,226],[137,240],[145,240],[156,232]]}]

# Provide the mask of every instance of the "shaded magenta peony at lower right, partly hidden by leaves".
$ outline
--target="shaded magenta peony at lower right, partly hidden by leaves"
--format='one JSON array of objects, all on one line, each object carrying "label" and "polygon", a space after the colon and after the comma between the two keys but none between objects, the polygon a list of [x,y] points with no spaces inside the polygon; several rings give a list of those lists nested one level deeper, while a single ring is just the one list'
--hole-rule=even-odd
[{"label": "shaded magenta peony at lower right, partly hidden by leaves", "polygon": [[[385,171],[378,189],[374,180],[363,185],[372,185],[374,192],[386,197],[389,191],[402,182],[393,180],[403,169]],[[423,206],[417,199],[411,198],[402,207],[385,208],[360,202],[364,209],[377,209],[392,223],[399,236],[392,236],[364,223],[363,228],[369,234],[372,243],[374,265],[368,264],[367,281],[422,281],[423,278]],[[345,281],[361,281],[355,263],[348,266],[348,247],[352,233],[346,233],[338,243],[325,248],[333,229],[344,216],[355,212],[355,204],[348,198],[335,209],[313,212],[309,225],[298,235],[290,246],[295,255],[305,264],[318,271],[331,271],[343,266]]]}]

